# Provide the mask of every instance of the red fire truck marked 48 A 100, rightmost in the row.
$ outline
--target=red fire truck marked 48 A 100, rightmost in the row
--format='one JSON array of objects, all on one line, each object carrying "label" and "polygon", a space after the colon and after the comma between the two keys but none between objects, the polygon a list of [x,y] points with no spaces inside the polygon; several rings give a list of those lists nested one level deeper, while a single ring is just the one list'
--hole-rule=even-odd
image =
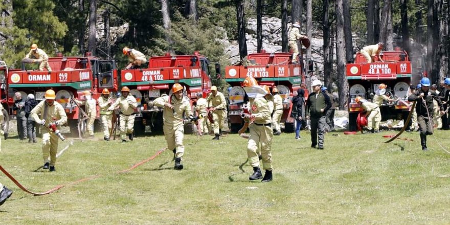
[{"label": "red fire truck marked 48 A 100, rightmost in the row", "polygon": [[355,102],[355,98],[361,96],[371,100],[381,83],[388,85],[386,88],[387,96],[393,99],[399,99],[396,102],[385,101],[380,106],[381,120],[404,120],[408,116],[410,109],[408,95],[413,79],[411,61],[408,53],[405,51],[387,51],[381,52],[380,57],[384,62],[380,62],[378,57],[375,56],[375,62],[367,63],[364,56],[357,53],[355,62],[349,63],[346,66],[349,85],[348,129],[350,131],[356,130],[356,117],[359,111],[363,110],[361,104]]}]

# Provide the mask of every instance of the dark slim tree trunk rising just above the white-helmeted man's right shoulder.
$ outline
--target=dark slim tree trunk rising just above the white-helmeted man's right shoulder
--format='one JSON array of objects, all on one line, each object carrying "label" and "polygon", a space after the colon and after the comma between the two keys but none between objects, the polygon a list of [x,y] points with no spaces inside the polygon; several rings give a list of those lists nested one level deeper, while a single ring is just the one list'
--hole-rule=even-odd
[{"label": "dark slim tree trunk rising just above the white-helmeted man's right shoulder", "polygon": [[[333,79],[331,77],[331,66],[332,66],[332,58],[331,51],[332,46],[330,46],[330,21],[329,21],[329,8],[330,3],[329,0],[323,1],[323,35],[324,35],[324,84],[325,86],[331,90]],[[331,91],[330,91],[331,92]]]}]

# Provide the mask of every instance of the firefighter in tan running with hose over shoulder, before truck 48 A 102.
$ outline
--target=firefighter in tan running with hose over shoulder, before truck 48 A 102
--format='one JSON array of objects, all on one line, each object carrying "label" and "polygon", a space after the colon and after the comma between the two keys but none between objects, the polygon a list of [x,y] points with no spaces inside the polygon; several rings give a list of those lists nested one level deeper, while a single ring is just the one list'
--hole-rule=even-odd
[{"label": "firefighter in tan running with hose over shoulder, before truck 48 A 102", "polygon": [[186,117],[193,116],[189,100],[183,98],[183,86],[179,83],[173,84],[172,95],[159,97],[153,101],[153,104],[164,107],[163,129],[167,148],[175,154],[174,169],[181,170],[183,169],[181,160],[185,152],[185,146],[183,145],[184,124],[189,122],[183,118],[183,115]]}]

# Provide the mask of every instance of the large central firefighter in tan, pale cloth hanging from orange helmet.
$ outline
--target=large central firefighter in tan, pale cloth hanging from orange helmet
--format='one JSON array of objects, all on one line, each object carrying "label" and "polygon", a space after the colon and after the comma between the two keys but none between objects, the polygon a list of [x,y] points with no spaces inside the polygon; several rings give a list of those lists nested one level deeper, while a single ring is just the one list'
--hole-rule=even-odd
[{"label": "large central firefighter in tan, pale cloth hanging from orange helmet", "polygon": [[[272,118],[269,111],[269,103],[267,101],[267,91],[258,85],[255,78],[245,78],[242,86],[245,93],[249,96],[251,114],[241,115],[244,121],[251,123],[249,142],[247,142],[247,156],[249,157],[250,165],[253,167],[253,174],[249,177],[251,181],[261,179],[261,182],[272,181]],[[261,145],[261,146],[260,146]],[[261,152],[262,167],[265,170],[264,177],[262,177],[261,169],[259,168],[259,156]]]}]

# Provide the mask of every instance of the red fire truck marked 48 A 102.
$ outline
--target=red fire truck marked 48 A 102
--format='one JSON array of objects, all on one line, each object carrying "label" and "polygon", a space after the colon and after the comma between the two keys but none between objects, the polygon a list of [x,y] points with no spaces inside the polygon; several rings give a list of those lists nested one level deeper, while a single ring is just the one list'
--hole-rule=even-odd
[{"label": "red fire truck marked 48 A 102", "polygon": [[[174,83],[184,86],[184,97],[196,101],[196,94],[206,93],[211,88],[208,59],[194,52],[193,55],[170,55],[151,57],[147,69],[121,71],[121,85],[130,88],[130,94],[136,97],[138,107],[135,109],[134,130],[137,135],[150,126],[152,132],[163,129],[163,108],[153,106],[154,99],[162,95],[171,95]],[[186,133],[192,133],[191,124],[185,127]]]}]

